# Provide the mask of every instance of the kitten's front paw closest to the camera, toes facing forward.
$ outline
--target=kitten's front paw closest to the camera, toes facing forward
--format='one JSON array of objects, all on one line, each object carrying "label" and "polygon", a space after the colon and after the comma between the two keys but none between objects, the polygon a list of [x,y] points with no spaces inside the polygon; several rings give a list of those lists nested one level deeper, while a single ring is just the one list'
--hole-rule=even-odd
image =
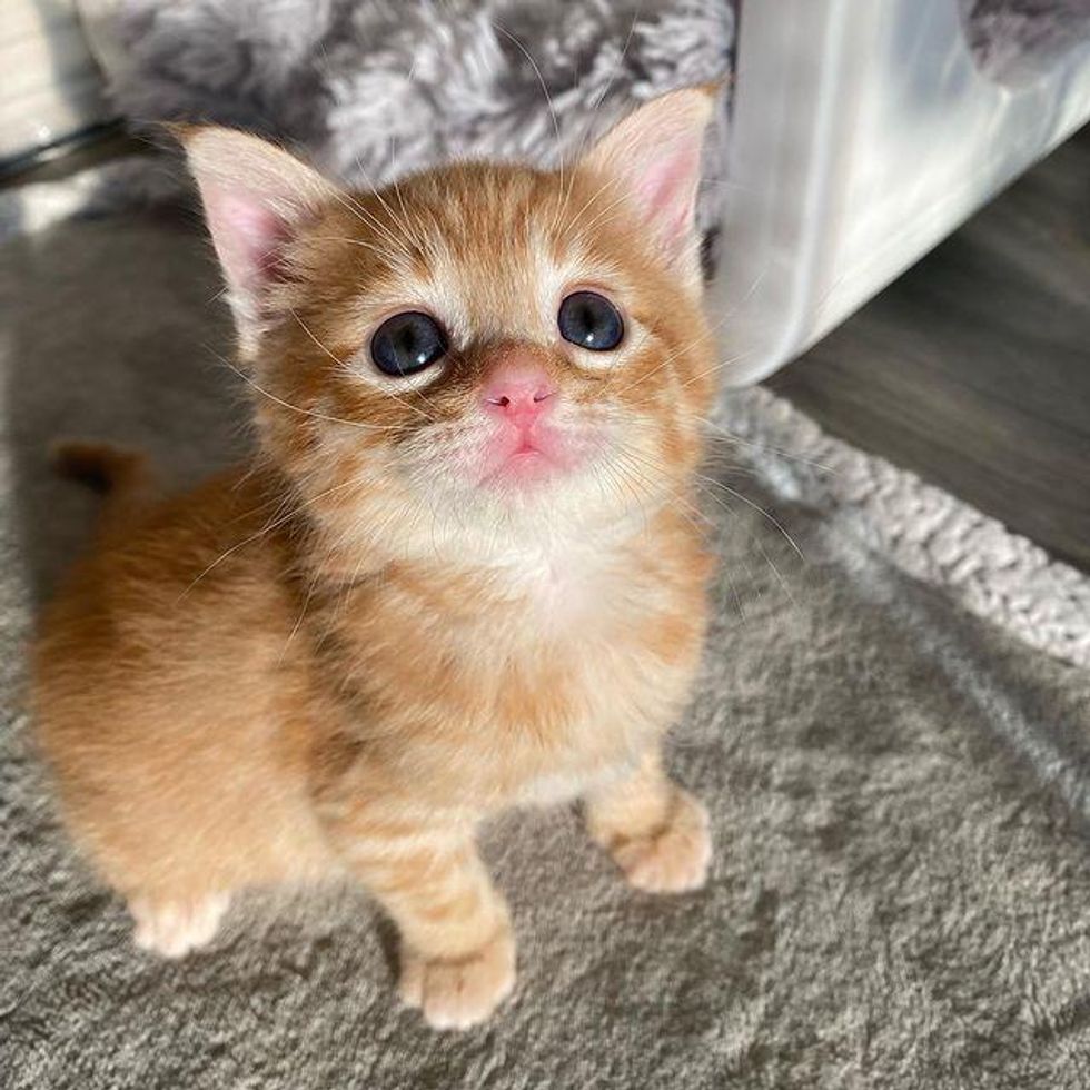
[{"label": "kitten's front paw closest to the camera, toes facing forward", "polygon": [[515,985],[515,941],[503,931],[465,958],[403,953],[400,993],[433,1029],[464,1030],[483,1022]]}]

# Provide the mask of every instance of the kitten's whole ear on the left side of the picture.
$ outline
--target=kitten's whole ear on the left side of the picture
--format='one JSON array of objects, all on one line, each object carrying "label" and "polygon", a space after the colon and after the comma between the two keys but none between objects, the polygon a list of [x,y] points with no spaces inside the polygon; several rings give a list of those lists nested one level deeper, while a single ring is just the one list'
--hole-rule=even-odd
[{"label": "kitten's whole ear on the left side of the picture", "polygon": [[337,190],[295,156],[248,132],[174,126],[197,179],[208,230],[224,267],[242,354],[260,333],[285,244]]}]

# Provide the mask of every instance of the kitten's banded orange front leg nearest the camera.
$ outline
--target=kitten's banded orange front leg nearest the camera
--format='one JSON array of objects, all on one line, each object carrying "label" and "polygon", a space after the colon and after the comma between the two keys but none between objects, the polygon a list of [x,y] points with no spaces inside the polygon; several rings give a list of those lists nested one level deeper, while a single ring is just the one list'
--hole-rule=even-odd
[{"label": "kitten's banded orange front leg nearest the camera", "polygon": [[402,935],[402,998],[435,1029],[486,1019],[515,983],[515,942],[503,898],[472,831],[436,819],[379,838],[371,826],[336,841],[353,872]]}]

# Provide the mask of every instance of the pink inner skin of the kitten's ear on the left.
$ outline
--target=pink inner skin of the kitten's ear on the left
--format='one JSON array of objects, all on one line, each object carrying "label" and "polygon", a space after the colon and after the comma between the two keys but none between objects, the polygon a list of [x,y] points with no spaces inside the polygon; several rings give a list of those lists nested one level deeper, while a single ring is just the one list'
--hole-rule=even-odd
[{"label": "pink inner skin of the kitten's ear on the left", "polygon": [[205,209],[231,289],[242,297],[259,293],[276,277],[288,225],[252,194],[215,186],[205,190]]}]

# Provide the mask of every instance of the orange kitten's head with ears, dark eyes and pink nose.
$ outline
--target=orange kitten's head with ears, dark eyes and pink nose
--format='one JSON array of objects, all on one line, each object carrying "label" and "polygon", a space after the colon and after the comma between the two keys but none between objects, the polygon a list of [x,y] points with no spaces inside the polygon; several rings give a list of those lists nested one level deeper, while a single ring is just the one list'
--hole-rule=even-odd
[{"label": "orange kitten's head with ears, dark eyes and pink nose", "polygon": [[184,140],[265,453],[317,523],[499,542],[646,518],[698,457],[714,365],[693,204],[712,97],[578,162],[348,192],[225,129]]}]

